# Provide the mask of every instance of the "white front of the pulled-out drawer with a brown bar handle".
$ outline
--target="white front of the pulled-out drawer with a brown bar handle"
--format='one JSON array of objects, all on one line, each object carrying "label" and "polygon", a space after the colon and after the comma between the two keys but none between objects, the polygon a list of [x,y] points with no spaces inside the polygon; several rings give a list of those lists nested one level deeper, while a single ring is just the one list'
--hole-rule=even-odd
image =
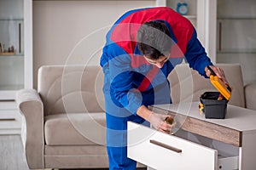
[{"label": "white front of the pulled-out drawer with a brown bar handle", "polygon": [[218,151],[128,122],[128,157],[160,170],[214,170]]}]

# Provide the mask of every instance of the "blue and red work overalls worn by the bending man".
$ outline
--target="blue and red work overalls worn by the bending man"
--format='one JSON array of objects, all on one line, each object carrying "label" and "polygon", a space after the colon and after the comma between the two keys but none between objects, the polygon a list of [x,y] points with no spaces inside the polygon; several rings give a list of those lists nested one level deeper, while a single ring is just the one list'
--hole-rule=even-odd
[{"label": "blue and red work overalls worn by the bending man", "polygon": [[[137,49],[137,30],[150,20],[165,22],[173,40],[171,58],[161,69],[148,64]],[[136,169],[137,162],[127,158],[127,121],[148,124],[137,116],[141,105],[172,103],[167,77],[183,59],[202,76],[206,76],[205,67],[212,65],[196,37],[195,28],[171,8],[131,10],[108,31],[101,65],[109,169]]]}]

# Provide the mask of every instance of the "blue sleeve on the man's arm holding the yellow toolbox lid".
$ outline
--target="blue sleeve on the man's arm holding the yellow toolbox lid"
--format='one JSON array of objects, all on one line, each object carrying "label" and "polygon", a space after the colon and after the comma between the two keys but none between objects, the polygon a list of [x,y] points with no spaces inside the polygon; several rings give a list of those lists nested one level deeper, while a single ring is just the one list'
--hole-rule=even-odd
[{"label": "blue sleeve on the man's arm holding the yellow toolbox lid", "polygon": [[201,42],[198,40],[195,29],[187,45],[185,58],[189,63],[189,67],[198,71],[201,76],[207,77],[205,67],[207,65],[212,65],[212,62],[207,56],[205,48],[202,47]]}]

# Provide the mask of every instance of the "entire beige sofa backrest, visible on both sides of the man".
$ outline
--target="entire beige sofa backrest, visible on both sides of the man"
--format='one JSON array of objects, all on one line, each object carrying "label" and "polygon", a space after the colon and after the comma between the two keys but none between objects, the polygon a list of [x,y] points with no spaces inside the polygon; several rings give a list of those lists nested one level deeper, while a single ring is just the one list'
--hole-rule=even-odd
[{"label": "entire beige sofa backrest, visible on both sides of the man", "polygon": [[[221,67],[233,88],[229,104],[244,107],[241,65]],[[177,65],[168,77],[172,103],[199,101],[207,91],[217,91],[209,79],[201,77],[189,65]],[[47,65],[38,70],[38,93],[44,102],[45,116],[60,113],[104,111],[103,73],[100,66]]]}]

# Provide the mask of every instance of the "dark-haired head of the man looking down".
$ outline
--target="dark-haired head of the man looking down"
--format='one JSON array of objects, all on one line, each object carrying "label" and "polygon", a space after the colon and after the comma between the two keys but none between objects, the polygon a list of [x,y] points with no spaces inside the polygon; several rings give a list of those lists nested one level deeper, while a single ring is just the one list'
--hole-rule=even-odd
[{"label": "dark-haired head of the man looking down", "polygon": [[162,21],[146,22],[137,31],[137,45],[150,64],[161,68],[171,52],[170,31]]}]

